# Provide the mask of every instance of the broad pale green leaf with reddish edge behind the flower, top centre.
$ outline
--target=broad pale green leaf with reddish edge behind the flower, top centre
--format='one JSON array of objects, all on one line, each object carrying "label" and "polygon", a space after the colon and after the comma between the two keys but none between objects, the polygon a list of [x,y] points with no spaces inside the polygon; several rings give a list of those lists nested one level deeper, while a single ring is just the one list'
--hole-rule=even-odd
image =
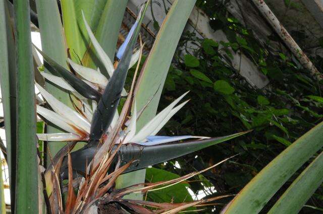
[{"label": "broad pale green leaf with reddish edge behind the flower, top centre", "polygon": [[[157,93],[137,121],[138,130],[140,130],[140,128],[142,128],[150,119],[152,119],[157,112],[159,98],[161,91],[163,90],[167,72],[195,2],[196,0],[176,0],[169,10],[163,24],[160,26],[154,45],[150,50],[150,54],[146,58],[144,67],[142,68],[143,75],[141,76],[141,81],[139,83],[140,85],[136,96],[137,109],[141,109],[144,105],[146,105],[149,99],[156,92]],[[123,185],[119,185],[119,187],[143,183],[145,178],[145,170],[129,173],[121,177],[123,177],[121,179],[126,180],[127,182],[123,183]]]}]

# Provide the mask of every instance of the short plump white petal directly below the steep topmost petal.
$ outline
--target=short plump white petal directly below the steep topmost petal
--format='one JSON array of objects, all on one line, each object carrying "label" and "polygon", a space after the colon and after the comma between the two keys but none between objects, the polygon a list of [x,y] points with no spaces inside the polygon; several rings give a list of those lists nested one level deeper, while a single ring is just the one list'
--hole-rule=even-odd
[{"label": "short plump white petal directly below the steep topmost petal", "polygon": [[99,84],[103,87],[107,84],[107,79],[102,75],[100,72],[97,72],[97,70],[94,70],[89,67],[84,67],[80,64],[75,63],[71,59],[68,59],[69,63],[82,78],[84,78],[87,81],[90,81],[92,83]]}]

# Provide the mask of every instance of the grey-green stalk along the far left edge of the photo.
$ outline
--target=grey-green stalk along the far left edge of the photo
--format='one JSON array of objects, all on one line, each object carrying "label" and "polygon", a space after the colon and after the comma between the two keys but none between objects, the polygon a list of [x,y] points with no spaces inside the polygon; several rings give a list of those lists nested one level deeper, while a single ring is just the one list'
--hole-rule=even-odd
[{"label": "grey-green stalk along the far left edge of the photo", "polygon": [[[12,207],[15,207],[15,181],[16,180],[16,53],[14,42],[14,27],[10,17],[9,8],[13,7],[7,1],[0,3],[0,85],[2,103],[4,108],[5,131],[7,142],[8,168],[10,177],[10,193]],[[12,84],[10,84],[12,83]]]}]

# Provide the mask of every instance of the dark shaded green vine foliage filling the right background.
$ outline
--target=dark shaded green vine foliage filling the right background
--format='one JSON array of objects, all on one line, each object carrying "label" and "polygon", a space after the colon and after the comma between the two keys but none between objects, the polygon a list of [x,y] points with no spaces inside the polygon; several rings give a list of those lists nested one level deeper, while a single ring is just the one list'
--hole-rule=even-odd
[{"label": "dark shaded green vine foliage filling the right background", "polygon": [[[187,97],[191,101],[174,116],[161,134],[222,136],[248,129],[253,131],[230,142],[154,167],[184,175],[239,154],[216,169],[191,179],[189,183],[196,194],[201,191],[208,196],[235,194],[294,140],[321,121],[321,81],[310,76],[294,57],[280,52],[273,54],[269,46],[261,45],[251,29],[228,15],[221,3],[198,1],[197,6],[210,18],[216,18],[210,20],[211,27],[222,29],[230,42],[219,44],[210,39],[198,39],[189,32],[183,34],[159,109],[188,90],[191,92]],[[273,38],[279,40],[277,35],[272,35]],[[186,50],[189,41],[198,48]],[[232,56],[229,48],[247,55],[268,77],[270,84],[261,90],[250,86],[239,75],[239,70],[225,62],[230,62],[231,58],[219,52],[221,49]],[[323,59],[316,55],[311,60],[321,71]],[[147,172],[146,179],[149,180],[153,176],[149,174],[149,169]],[[286,183],[282,191],[297,175],[299,173]],[[217,192],[211,191],[212,186]],[[153,195],[151,197],[156,200]],[[167,198],[172,199],[172,195]],[[187,200],[184,196],[181,199]],[[221,202],[227,203],[230,199]],[[175,200],[178,202],[179,198]],[[307,204],[322,207],[323,188],[320,187]],[[271,203],[267,206],[270,207]],[[204,211],[211,210],[214,211],[209,207]],[[304,207],[302,213],[315,213],[315,210]]]}]

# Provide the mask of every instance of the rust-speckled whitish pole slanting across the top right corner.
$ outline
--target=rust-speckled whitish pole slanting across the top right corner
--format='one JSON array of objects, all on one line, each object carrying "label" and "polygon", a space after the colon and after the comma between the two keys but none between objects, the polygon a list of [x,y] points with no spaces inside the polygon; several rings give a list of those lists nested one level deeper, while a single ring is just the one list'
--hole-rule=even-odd
[{"label": "rust-speckled whitish pole slanting across the top right corner", "polygon": [[310,70],[313,76],[316,76],[318,80],[323,79],[322,74],[318,72],[315,65],[309,60],[307,55],[302,51],[302,49],[298,46],[295,40],[291,37],[291,35],[287,32],[284,26],[277,19],[275,14],[271,11],[271,9],[266,5],[263,0],[252,0],[254,5],[258,8],[263,17],[267,20],[268,23],[274,28],[276,33],[281,37],[281,39],[285,42],[288,48],[292,51],[295,57],[300,61],[300,63]]}]

